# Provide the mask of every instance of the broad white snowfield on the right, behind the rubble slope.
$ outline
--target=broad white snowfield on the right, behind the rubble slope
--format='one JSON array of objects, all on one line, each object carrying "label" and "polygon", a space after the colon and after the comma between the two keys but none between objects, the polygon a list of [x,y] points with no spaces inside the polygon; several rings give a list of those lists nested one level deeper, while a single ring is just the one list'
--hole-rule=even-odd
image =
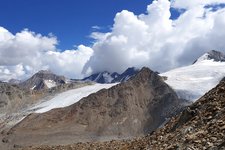
[{"label": "broad white snowfield on the right, behind the rubble slope", "polygon": [[225,77],[225,62],[204,60],[204,57],[193,65],[160,75],[167,77],[165,82],[177,92],[180,98],[196,101]]}]

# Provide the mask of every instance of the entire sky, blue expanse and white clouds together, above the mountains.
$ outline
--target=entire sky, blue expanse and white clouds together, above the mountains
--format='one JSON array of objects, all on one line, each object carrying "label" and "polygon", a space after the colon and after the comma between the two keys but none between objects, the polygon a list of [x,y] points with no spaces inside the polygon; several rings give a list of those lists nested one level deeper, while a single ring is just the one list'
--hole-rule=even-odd
[{"label": "entire sky, blue expanse and white clouds together, above the mountains", "polygon": [[209,50],[225,52],[224,0],[0,0],[0,4],[2,81],[25,79],[43,69],[70,78],[143,66],[165,72],[191,64]]}]

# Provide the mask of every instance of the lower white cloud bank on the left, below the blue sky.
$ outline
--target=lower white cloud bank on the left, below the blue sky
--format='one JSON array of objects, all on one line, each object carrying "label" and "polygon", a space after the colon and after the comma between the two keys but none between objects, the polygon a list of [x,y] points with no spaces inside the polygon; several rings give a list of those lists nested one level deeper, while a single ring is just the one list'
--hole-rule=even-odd
[{"label": "lower white cloud bank on the left, below the blue sky", "polygon": [[49,69],[68,77],[82,77],[81,71],[93,50],[83,45],[60,52],[54,36],[42,36],[25,29],[15,35],[0,27],[0,80],[26,79]]}]

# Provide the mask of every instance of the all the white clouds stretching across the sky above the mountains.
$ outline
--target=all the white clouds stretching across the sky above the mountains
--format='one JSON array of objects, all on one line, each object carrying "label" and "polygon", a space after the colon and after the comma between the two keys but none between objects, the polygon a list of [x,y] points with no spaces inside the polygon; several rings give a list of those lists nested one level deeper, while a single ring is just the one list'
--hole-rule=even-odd
[{"label": "all the white clouds stretching across the sky above the mountains", "polygon": [[[122,72],[131,66],[163,72],[191,64],[211,49],[225,52],[225,8],[218,7],[222,3],[155,0],[144,14],[117,13],[110,32],[91,34],[92,47],[64,51],[57,50],[57,38],[52,35],[27,29],[13,35],[0,27],[0,80],[24,79],[40,69],[81,78],[105,70]],[[185,11],[171,19],[171,7]]]}]

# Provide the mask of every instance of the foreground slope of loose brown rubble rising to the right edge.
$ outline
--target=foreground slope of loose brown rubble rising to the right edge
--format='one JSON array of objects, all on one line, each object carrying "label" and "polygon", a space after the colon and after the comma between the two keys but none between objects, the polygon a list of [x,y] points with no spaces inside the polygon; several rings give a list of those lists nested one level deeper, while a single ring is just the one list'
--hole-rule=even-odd
[{"label": "foreground slope of loose brown rubble rising to the right edge", "polygon": [[225,78],[155,132],[132,140],[27,147],[26,150],[69,149],[225,149]]}]

